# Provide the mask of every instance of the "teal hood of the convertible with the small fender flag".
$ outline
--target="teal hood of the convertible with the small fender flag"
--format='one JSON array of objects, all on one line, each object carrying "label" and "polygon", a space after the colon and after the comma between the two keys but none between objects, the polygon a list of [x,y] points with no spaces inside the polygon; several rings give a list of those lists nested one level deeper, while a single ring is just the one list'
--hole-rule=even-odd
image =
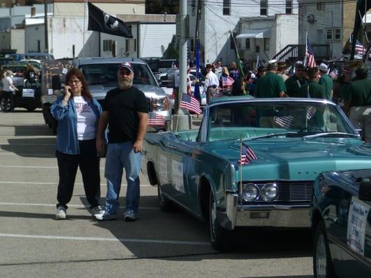
[{"label": "teal hood of the convertible with the small fender flag", "polygon": [[[222,144],[223,145],[223,144]],[[267,140],[246,141],[258,160],[242,166],[243,179],[314,180],[320,172],[371,168],[371,144],[359,140]],[[224,144],[212,151],[235,164],[239,143]]]}]

